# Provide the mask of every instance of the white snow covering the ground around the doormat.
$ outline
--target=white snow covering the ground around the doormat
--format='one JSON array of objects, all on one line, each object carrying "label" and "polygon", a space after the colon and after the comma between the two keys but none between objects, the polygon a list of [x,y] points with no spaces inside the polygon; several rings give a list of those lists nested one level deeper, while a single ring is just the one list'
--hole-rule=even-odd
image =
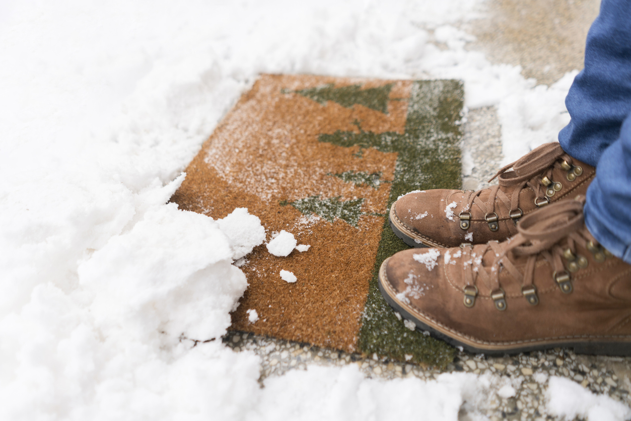
[{"label": "white snow covering the ground around the doormat", "polygon": [[[469,108],[497,107],[507,162],[556,139],[574,74],[534,86],[466,51],[457,23],[479,6],[0,2],[0,419],[456,420],[464,401],[475,409],[497,379],[384,382],[314,366],[260,388],[258,357],[219,338],[247,287],[232,263],[264,227],[244,210],[216,222],[165,203],[262,72],[459,78]],[[551,413],[630,415],[570,386],[551,383]]]}]

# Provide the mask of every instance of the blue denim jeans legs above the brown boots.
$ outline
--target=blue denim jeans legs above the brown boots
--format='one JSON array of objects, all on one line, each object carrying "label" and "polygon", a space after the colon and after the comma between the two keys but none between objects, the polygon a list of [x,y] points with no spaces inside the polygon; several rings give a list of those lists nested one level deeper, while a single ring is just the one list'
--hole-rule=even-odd
[{"label": "blue denim jeans legs above the brown boots", "polygon": [[585,49],[585,68],[565,98],[572,120],[558,140],[596,167],[584,208],[587,229],[631,263],[631,0],[603,0]]}]

